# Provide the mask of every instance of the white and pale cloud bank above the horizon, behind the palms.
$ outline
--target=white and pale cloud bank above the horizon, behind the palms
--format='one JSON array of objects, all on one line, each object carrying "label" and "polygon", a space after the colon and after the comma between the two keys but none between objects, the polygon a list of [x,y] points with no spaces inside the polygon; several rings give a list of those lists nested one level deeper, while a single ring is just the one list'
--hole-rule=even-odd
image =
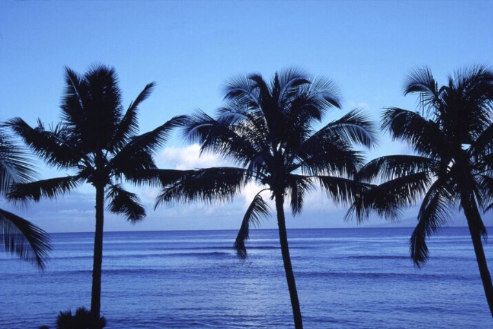
[{"label": "white and pale cloud bank above the horizon, behind the palms", "polygon": [[[220,159],[213,154],[199,156],[198,145],[184,147],[165,147],[157,156],[159,167],[171,169],[197,169],[203,167],[218,167],[231,165],[231,162]],[[138,193],[147,209],[147,217],[137,224],[125,223],[121,216],[105,212],[105,231],[174,231],[174,230],[204,230],[204,229],[239,229],[244,212],[254,196],[262,189],[256,184],[248,184],[239,195],[229,204],[211,202],[203,204],[166,204],[154,210],[154,202],[159,193],[158,188],[130,187]],[[264,200],[271,206],[271,216],[260,224],[260,229],[275,229],[275,206],[269,200],[269,191],[262,193]],[[27,206],[4,207],[21,217],[25,217],[48,232],[81,232],[94,231],[94,191],[92,186],[85,184],[80,189],[67,193],[56,200],[41,200]],[[357,224],[355,220],[343,220],[348,207],[339,206],[330,200],[326,193],[315,189],[308,193],[304,202],[304,210],[293,217],[289,200],[284,204],[288,228],[350,228],[350,227],[392,227],[414,226],[416,223],[417,206],[405,211],[398,222],[390,222],[374,215],[369,220]],[[493,215],[487,213],[485,222]],[[450,226],[464,226],[465,218],[461,213],[454,215]]]}]

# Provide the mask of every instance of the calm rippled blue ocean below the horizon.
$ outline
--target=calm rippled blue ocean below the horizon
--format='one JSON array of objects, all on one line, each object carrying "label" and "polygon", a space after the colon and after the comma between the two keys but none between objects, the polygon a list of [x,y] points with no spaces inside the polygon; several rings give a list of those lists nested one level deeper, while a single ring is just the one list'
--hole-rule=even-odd
[{"label": "calm rippled blue ocean below the horizon", "polygon": [[[412,229],[289,230],[305,328],[493,328],[466,228],[430,240],[419,270]],[[293,328],[277,231],[107,232],[102,315],[108,329]],[[54,326],[90,306],[92,233],[52,235],[45,273],[0,254],[0,328]],[[486,246],[493,270],[492,246]]]}]

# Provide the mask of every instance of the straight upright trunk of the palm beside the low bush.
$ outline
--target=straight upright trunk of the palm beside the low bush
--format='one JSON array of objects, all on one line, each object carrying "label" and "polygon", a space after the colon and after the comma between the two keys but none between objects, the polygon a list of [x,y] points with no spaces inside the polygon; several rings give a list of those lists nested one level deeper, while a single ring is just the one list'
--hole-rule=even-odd
[{"label": "straight upright trunk of the palm beside the low bush", "polygon": [[105,187],[96,186],[96,231],[94,233],[94,258],[92,264],[91,329],[99,329],[101,312],[101,268],[103,265],[103,224]]}]

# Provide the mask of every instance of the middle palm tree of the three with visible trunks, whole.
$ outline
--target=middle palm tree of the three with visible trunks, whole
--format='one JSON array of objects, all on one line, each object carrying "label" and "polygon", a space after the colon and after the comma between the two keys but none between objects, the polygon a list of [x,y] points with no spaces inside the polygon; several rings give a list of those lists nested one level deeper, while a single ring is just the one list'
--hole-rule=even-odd
[{"label": "middle palm tree of the three with visible trunks, whole", "polygon": [[291,211],[299,214],[304,195],[319,183],[337,202],[348,202],[357,188],[350,177],[362,162],[360,152],[351,146],[372,146],[373,125],[361,111],[353,110],[315,131],[313,126],[328,109],[340,107],[337,87],[300,70],[284,70],[270,83],[259,74],[240,76],[227,83],[224,94],[225,105],[218,109],[217,118],[196,112],[189,117],[185,136],[189,142],[200,142],[202,152],[218,153],[238,167],[189,171],[177,182],[165,184],[156,206],[162,202],[227,201],[249,182],[263,186],[247,209],[235,240],[238,256],[244,259],[250,226],[269,213],[261,196],[269,191],[275,202],[295,328],[302,328],[284,201],[291,198]]}]

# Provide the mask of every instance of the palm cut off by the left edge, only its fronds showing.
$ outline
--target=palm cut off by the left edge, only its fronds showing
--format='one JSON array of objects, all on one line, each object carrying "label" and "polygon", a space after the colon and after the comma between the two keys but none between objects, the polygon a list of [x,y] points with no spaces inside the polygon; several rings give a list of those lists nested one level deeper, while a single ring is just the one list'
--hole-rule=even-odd
[{"label": "palm cut off by the left edge, only its fronds showing", "polygon": [[[35,176],[32,159],[0,127],[0,195],[5,197],[12,184],[29,182]],[[51,251],[50,237],[28,220],[0,209],[0,250],[14,253],[43,270]]]}]

